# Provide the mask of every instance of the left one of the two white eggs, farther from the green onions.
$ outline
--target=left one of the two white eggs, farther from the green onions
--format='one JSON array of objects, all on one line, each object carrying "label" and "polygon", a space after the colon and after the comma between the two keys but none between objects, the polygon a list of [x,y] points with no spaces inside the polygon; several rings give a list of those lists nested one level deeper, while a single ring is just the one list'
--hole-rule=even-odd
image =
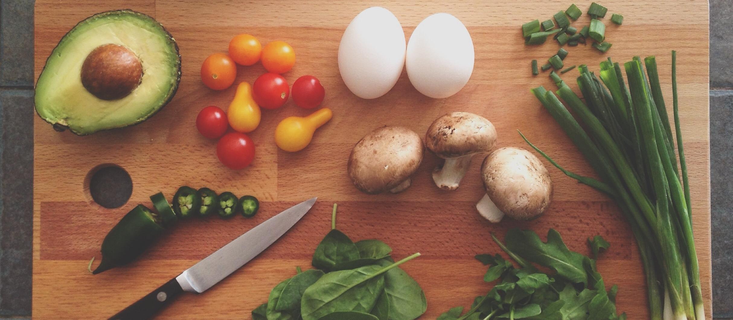
[{"label": "left one of the two white eggs, farther from the green onions", "polygon": [[383,7],[370,7],[349,23],[339,44],[339,72],[364,99],[386,94],[405,65],[405,31]]}]

